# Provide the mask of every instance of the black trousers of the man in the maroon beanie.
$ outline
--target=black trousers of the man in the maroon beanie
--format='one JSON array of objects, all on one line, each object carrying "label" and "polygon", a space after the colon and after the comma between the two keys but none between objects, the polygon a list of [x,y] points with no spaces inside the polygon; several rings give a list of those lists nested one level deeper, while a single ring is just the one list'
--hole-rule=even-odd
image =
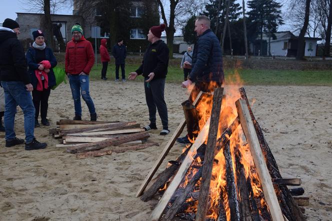
[{"label": "black trousers of the man in the maroon beanie", "polygon": [[[145,80],[148,78],[145,77]],[[165,88],[165,78],[153,79],[150,82],[145,82],[144,80],[144,90],[145,99],[148,107],[148,115],[151,124],[155,124],[155,114],[158,110],[162,127],[168,128],[168,115],[167,115],[167,105],[164,99],[164,88]]]}]

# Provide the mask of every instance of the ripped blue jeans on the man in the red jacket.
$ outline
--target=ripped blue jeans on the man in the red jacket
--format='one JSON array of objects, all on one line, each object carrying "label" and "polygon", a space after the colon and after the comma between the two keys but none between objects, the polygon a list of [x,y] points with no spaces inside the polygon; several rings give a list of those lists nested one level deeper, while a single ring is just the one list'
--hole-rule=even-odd
[{"label": "ripped blue jeans on the man in the red jacket", "polygon": [[71,88],[72,98],[74,100],[75,115],[82,115],[82,107],[80,105],[80,95],[89,108],[90,114],[95,113],[93,100],[89,92],[89,76],[68,74],[69,84]]}]

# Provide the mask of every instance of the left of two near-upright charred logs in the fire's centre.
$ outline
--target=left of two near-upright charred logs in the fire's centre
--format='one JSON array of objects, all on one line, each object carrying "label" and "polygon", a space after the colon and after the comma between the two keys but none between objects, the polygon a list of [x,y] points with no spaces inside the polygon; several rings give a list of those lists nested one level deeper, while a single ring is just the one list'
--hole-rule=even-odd
[{"label": "left of two near-upright charred logs in the fire's centre", "polygon": [[228,205],[230,208],[230,220],[239,220],[240,211],[237,201],[235,177],[233,173],[233,162],[230,154],[229,141],[223,148],[223,154],[225,156],[225,163],[226,163],[226,181],[227,181]]}]

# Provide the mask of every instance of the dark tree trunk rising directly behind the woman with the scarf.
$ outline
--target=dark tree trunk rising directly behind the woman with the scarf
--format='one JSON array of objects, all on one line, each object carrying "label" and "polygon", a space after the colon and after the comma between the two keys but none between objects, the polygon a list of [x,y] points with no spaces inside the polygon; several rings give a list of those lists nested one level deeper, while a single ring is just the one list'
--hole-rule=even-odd
[{"label": "dark tree trunk rising directly behind the woman with the scarf", "polygon": [[41,20],[40,26],[43,28],[45,43],[48,47],[54,50],[54,46],[52,44],[52,20],[50,18],[50,0],[44,0],[44,19]]}]

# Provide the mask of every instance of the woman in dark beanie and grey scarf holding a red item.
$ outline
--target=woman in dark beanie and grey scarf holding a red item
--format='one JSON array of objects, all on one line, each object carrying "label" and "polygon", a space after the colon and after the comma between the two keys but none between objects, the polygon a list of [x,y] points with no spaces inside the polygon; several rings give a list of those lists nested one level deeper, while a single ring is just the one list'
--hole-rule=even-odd
[{"label": "woman in dark beanie and grey scarf holding a red item", "polygon": [[38,115],[40,107],[41,123],[49,125],[47,116],[48,97],[50,88],[56,84],[53,67],[56,59],[51,48],[46,47],[44,34],[41,30],[32,32],[34,42],[26,52],[28,71],[33,85],[32,101],[35,108],[34,127],[38,127]]}]

